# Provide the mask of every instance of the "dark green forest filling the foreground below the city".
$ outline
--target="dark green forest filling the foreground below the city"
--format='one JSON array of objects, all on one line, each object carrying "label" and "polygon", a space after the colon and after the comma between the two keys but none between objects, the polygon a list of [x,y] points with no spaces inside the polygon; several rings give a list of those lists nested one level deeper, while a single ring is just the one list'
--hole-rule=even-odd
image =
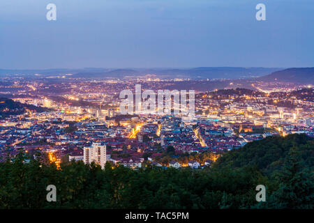
[{"label": "dark green forest filling the foreground below the city", "polygon": [[[210,169],[57,169],[19,153],[0,164],[0,208],[314,208],[313,153],[305,134],[248,143]],[[56,202],[46,200],[47,185],[57,187]],[[257,185],[267,188],[266,201],[256,201]]]}]

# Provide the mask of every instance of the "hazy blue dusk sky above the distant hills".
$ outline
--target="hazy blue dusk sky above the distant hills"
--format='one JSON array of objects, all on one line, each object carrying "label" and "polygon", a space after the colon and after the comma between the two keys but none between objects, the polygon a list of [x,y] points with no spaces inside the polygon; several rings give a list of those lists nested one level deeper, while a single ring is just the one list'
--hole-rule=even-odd
[{"label": "hazy blue dusk sky above the distant hills", "polygon": [[314,1],[0,1],[0,68],[199,66],[314,66]]}]

